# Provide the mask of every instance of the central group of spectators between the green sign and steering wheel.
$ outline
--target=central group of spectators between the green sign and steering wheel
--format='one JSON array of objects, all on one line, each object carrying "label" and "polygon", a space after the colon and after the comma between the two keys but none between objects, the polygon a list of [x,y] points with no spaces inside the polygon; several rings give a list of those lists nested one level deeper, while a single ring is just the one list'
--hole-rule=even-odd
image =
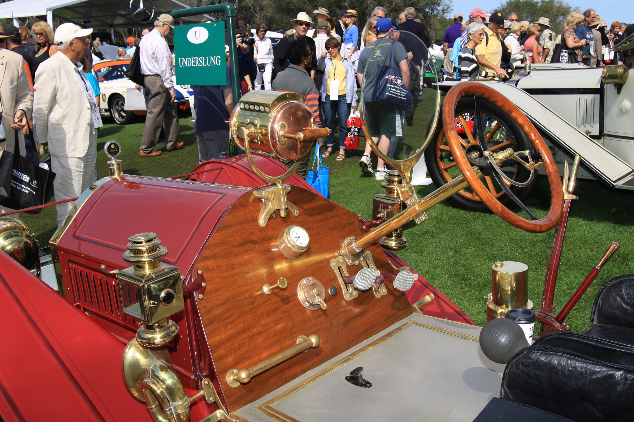
[{"label": "central group of spectators between the green sign and steering wheel", "polygon": [[[371,63],[374,71],[379,64],[401,68],[403,81],[415,96],[413,106],[405,111],[394,109],[391,112],[377,115],[377,127],[370,129],[373,140],[387,156],[393,158],[399,136],[403,135],[403,126],[413,125],[413,116],[417,104],[417,96],[422,87],[422,70],[427,62],[427,46],[430,45],[425,26],[416,19],[414,8],[406,8],[399,15],[399,30],[408,33],[392,32],[397,27],[386,18],[385,8],[377,6],[372,15],[359,31],[358,13],[354,9],[342,10],[337,18],[330,16],[328,9],[320,7],[312,16],[302,11],[290,23],[292,29],[285,33],[273,52],[271,39],[266,34],[268,28],[264,24],[257,25],[256,37],[252,46],[238,42],[242,92],[251,90],[273,89],[296,92],[304,96],[305,104],[311,109],[319,125],[332,130],[330,135],[322,139],[320,146],[322,158],[335,155],[336,161],[346,159],[347,120],[358,106],[357,89],[365,84],[364,103],[366,110],[372,108],[372,92],[374,81],[372,76],[363,79],[365,66]],[[313,29],[313,35],[309,31]],[[238,37],[248,37],[250,32],[246,22],[236,20]],[[411,34],[409,34],[411,33]],[[413,35],[412,35],[413,34]],[[389,35],[386,37],[386,35]],[[423,42],[419,41],[422,40]],[[393,63],[387,56],[380,60],[369,58],[371,51],[379,52],[392,49],[398,54]],[[364,53],[365,51],[365,53]],[[402,56],[404,51],[404,57]],[[306,53],[306,54],[304,54]],[[367,56],[364,56],[366,54]],[[379,54],[379,53],[377,53]],[[387,53],[386,53],[387,54]],[[378,63],[380,61],[380,63]],[[252,66],[252,64],[255,66]],[[251,70],[250,70],[251,69]],[[251,83],[254,81],[254,83]],[[215,87],[214,89],[219,89]],[[217,107],[220,108],[222,98],[216,96]],[[195,104],[197,99],[195,98]],[[198,115],[198,109],[196,108]],[[375,113],[376,114],[376,113]],[[227,118],[227,115],[221,118]],[[225,119],[226,120],[226,119]],[[339,126],[339,142],[335,149],[335,130]],[[228,130],[228,127],[226,128]],[[226,141],[228,142],[228,140]],[[382,160],[378,159],[376,172],[370,161],[372,149],[366,144],[359,166],[367,175],[375,175],[377,180],[385,178],[387,170]],[[201,157],[200,159],[203,159]],[[305,177],[308,157],[302,158],[297,174]],[[290,163],[287,163],[290,166]]]}]

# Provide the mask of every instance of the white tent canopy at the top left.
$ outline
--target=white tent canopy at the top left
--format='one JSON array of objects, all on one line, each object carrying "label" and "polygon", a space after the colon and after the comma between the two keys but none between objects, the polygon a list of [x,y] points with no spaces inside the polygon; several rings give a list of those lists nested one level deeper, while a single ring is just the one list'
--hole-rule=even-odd
[{"label": "white tent canopy at the top left", "polygon": [[[144,0],[141,0],[143,4]],[[134,1],[134,7],[139,6],[139,1]],[[152,25],[155,18],[161,13],[170,13],[172,9],[189,8],[189,6],[177,0],[145,0],[145,7],[152,9],[154,16],[150,22],[143,26]],[[73,22],[87,28],[133,28],[142,26],[134,20],[130,13],[129,0],[13,0],[0,3],[0,18],[13,18],[15,26],[18,18],[28,16],[44,16],[53,27],[53,15],[67,22]],[[191,16],[183,18],[183,23],[201,22],[206,20],[203,16]],[[55,29],[55,28],[54,28]]]}]

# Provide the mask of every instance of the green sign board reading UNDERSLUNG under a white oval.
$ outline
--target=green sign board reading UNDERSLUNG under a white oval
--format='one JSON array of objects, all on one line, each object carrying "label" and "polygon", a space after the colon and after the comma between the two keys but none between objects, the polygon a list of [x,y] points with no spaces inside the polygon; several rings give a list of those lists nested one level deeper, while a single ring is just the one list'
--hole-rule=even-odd
[{"label": "green sign board reading UNDERSLUNG under a white oval", "polygon": [[179,85],[225,85],[224,22],[174,25],[174,58]]}]

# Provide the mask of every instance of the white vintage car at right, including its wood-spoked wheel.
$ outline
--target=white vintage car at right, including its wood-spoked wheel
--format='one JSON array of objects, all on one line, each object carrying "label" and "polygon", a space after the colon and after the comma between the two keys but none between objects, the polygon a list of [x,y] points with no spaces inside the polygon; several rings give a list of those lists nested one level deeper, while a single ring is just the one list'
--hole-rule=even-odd
[{"label": "white vintage car at right, including its wood-spoked wheel", "polygon": [[[634,39],[626,40],[623,52],[625,65],[588,68],[571,63],[546,63],[516,70],[508,82],[482,84],[503,94],[528,116],[550,146],[560,170],[564,160],[571,161],[571,157],[579,155],[579,177],[595,178],[614,189],[631,190],[634,189],[634,118],[629,113],[634,101],[634,81],[628,82],[628,75],[633,72]],[[448,91],[456,83],[437,85]],[[514,151],[532,151],[521,128],[504,110],[486,99],[481,99],[479,106],[489,150],[512,147]],[[473,139],[463,130],[460,116],[473,130],[474,109],[474,97],[463,97],[456,108],[456,128],[466,147]],[[442,124],[425,152],[425,161],[436,185],[447,183],[459,173],[446,145]],[[505,172],[515,180],[526,175],[521,166],[505,168]],[[519,199],[526,197],[531,189],[531,186],[508,185]],[[489,190],[507,206],[513,205],[495,180],[489,183]],[[467,209],[486,208],[470,190],[455,195],[453,201]]]}]

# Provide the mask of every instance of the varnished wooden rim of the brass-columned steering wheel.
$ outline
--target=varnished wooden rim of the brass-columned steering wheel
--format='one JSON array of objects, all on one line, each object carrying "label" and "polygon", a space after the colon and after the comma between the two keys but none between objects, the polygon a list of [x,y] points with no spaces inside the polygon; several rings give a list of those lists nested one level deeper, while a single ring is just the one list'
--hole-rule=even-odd
[{"label": "varnished wooden rim of the brass-columned steering wheel", "polygon": [[[548,213],[544,218],[541,218],[539,220],[529,220],[515,214],[513,211],[504,206],[491,192],[491,188],[488,186],[486,180],[483,181],[475,175],[475,171],[472,168],[473,164],[469,161],[469,159],[467,159],[466,154],[466,150],[467,147],[469,147],[469,144],[467,144],[465,139],[462,139],[458,135],[455,123],[456,105],[463,96],[468,95],[475,96],[474,102],[476,111],[479,111],[479,109],[481,108],[480,106],[482,98],[488,99],[489,101],[500,106],[500,108],[503,109],[503,111],[505,111],[505,113],[507,113],[507,115],[510,116],[513,121],[517,122],[519,127],[522,128],[522,132],[531,142],[534,151],[540,152],[541,158],[544,163],[543,166],[548,177],[551,197],[550,209],[548,210]],[[477,119],[477,116],[475,117],[476,118],[474,119],[474,126],[477,127],[479,119]],[[478,82],[461,82],[460,84],[454,85],[445,97],[443,109],[443,126],[446,129],[445,136],[447,139],[447,144],[450,149],[451,155],[453,156],[453,159],[455,159],[456,161],[456,166],[460,169],[460,172],[469,182],[469,185],[473,189],[474,194],[476,194],[482,200],[482,202],[484,202],[484,204],[486,204],[486,206],[488,206],[488,208],[493,211],[493,213],[499,216],[502,220],[507,221],[507,223],[509,223],[510,225],[520,228],[526,232],[546,232],[557,225],[561,218],[564,207],[564,192],[562,190],[561,179],[559,177],[557,165],[555,164],[555,160],[553,159],[552,154],[550,154],[550,151],[545,142],[543,141],[543,139],[541,139],[540,134],[533,126],[533,123],[531,123],[531,121],[528,120],[524,113],[522,113],[512,102],[508,101],[505,96],[485,84],[480,84]],[[469,130],[465,132],[470,134]],[[476,139],[477,136],[477,134],[472,135],[474,139]],[[467,136],[467,138],[469,138],[469,136]],[[477,142],[479,146],[482,146],[483,150],[488,149],[488,145],[484,142],[480,142],[478,139],[476,139],[475,142]],[[486,135],[484,136],[484,140],[486,140]],[[484,161],[486,161],[486,159]],[[488,168],[491,168],[491,164],[488,164]],[[526,209],[521,201],[519,202],[519,206],[521,206],[523,209]]]}]

